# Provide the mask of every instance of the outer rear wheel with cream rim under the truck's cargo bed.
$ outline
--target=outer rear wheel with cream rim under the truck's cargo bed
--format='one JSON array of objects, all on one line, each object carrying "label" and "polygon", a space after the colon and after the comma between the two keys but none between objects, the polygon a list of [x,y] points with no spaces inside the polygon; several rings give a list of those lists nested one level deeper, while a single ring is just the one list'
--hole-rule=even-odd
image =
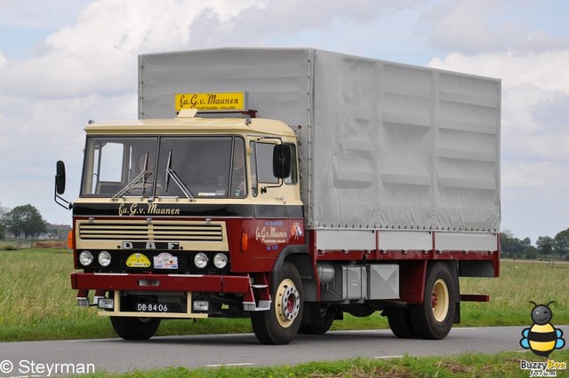
[{"label": "outer rear wheel with cream rim under the truck's cargo bed", "polygon": [[453,327],[456,309],[455,278],[445,263],[432,264],[427,272],[425,300],[410,308],[416,335],[423,339],[441,340]]}]

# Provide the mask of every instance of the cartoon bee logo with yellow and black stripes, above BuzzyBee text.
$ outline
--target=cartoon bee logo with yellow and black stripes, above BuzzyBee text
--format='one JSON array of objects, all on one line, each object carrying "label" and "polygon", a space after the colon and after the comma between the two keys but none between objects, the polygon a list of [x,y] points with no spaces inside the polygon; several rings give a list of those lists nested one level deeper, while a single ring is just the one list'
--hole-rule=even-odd
[{"label": "cartoon bee logo with yellow and black stripes, above BuzzyBee text", "polygon": [[553,317],[549,304],[554,303],[554,301],[548,304],[537,304],[533,301],[530,303],[533,303],[534,306],[532,310],[533,326],[522,331],[524,337],[519,341],[519,344],[524,349],[532,350],[538,356],[549,358],[549,354],[553,350],[565,346],[565,340],[561,337],[563,331],[549,323]]}]

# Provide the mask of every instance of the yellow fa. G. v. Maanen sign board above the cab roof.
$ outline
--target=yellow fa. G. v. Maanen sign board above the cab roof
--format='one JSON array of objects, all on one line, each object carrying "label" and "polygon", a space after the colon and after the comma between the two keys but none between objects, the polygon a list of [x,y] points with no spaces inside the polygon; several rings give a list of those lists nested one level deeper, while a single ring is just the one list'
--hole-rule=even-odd
[{"label": "yellow fa. G. v. Maanen sign board above the cab roof", "polygon": [[245,111],[245,92],[221,93],[176,93],[174,108],[197,109],[204,112],[240,112]]}]

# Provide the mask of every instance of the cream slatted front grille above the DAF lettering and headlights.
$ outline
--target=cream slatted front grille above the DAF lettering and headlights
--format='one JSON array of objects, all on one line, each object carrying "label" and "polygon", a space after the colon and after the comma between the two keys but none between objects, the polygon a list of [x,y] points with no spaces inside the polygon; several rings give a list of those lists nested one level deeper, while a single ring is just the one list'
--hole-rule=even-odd
[{"label": "cream slatted front grille above the DAF lettering and headlights", "polygon": [[[136,222],[136,223],[135,223]],[[204,222],[153,221],[81,223],[82,240],[180,240],[222,241],[222,224]]]}]

